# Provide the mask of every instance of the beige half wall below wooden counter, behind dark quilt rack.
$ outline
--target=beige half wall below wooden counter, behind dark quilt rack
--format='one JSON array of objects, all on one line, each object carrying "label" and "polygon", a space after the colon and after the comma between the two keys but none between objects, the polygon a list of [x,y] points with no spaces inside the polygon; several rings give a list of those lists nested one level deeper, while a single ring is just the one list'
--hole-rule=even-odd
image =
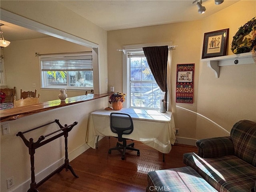
[{"label": "beige half wall below wooden counter, behind dark quilt rack", "polygon": [[[30,188],[30,155],[28,154],[28,147],[25,146],[20,137],[16,136],[19,131],[24,132],[52,122],[55,119],[60,120],[62,126],[64,126],[64,124],[70,125],[77,121],[78,124],[74,126],[68,134],[68,158],[72,165],[72,160],[89,148],[89,146],[85,144],[85,138],[90,113],[105,108],[108,105],[107,103],[108,97],[104,97],[1,123],[9,124],[10,134],[3,136],[1,133],[0,135],[0,191],[26,192]],[[24,134],[24,136],[27,140],[34,138],[34,142],[36,142],[41,135],[49,134],[58,129],[57,124],[54,123]],[[45,140],[51,137],[52,136],[46,137]],[[34,157],[37,183],[64,163],[64,147],[64,137],[62,136],[36,149]],[[69,174],[70,178],[73,178],[70,171]],[[14,187],[7,190],[6,179],[12,176],[14,176]]]}]

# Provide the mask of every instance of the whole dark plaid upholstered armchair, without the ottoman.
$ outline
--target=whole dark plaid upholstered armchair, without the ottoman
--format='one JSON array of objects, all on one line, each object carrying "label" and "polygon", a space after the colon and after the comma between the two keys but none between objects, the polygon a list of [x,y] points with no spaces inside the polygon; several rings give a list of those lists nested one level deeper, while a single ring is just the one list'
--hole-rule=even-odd
[{"label": "whole dark plaid upholstered armchair, without the ottoman", "polygon": [[241,120],[230,136],[201,139],[183,162],[219,192],[256,192],[256,122]]}]

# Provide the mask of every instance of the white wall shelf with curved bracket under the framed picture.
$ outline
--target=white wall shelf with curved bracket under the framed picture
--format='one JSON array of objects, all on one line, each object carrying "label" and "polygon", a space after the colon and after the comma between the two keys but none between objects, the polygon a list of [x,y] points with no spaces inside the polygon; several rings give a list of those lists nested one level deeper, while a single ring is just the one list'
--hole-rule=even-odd
[{"label": "white wall shelf with curved bracket under the framed picture", "polygon": [[249,52],[201,59],[201,62],[207,62],[207,66],[214,70],[215,76],[218,78],[220,66],[253,64],[254,60],[252,59],[252,53]]}]

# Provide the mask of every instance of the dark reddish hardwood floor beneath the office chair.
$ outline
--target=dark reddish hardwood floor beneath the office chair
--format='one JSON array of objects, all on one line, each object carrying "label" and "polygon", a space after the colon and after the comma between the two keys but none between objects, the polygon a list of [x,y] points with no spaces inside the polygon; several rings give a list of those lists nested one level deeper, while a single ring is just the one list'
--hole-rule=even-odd
[{"label": "dark reddish hardwood floor beneath the office chair", "polygon": [[108,149],[116,146],[116,141],[116,138],[104,137],[99,141],[98,149],[90,148],[72,160],[70,164],[79,178],[62,170],[39,186],[38,191],[145,192],[148,172],[185,166],[182,155],[197,152],[195,146],[175,144],[162,162],[162,153],[134,141],[134,147],[140,149],[140,156],[135,151],[128,151],[125,160],[121,160],[118,150],[108,154]]}]

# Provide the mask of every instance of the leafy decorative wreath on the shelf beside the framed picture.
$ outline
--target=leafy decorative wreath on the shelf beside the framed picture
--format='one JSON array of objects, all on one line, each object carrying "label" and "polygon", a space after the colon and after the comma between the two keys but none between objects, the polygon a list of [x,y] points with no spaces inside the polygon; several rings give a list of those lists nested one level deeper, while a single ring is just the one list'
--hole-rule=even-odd
[{"label": "leafy decorative wreath on the shelf beside the framed picture", "polygon": [[231,50],[234,54],[248,53],[254,46],[256,46],[256,17],[238,29],[233,37]]}]

